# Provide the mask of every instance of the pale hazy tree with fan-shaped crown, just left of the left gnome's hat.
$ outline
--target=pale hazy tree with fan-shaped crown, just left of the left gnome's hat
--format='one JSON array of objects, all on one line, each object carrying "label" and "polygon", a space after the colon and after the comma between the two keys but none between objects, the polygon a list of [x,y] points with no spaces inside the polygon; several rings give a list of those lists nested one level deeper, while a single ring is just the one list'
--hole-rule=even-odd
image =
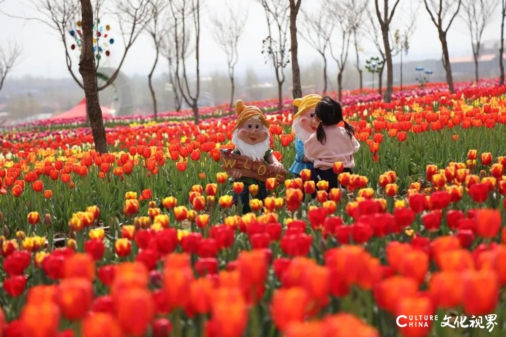
[{"label": "pale hazy tree with fan-shaped crown, just left of the left gnome's hat", "polygon": [[[233,10],[231,4],[228,4],[229,15],[224,18],[223,15],[220,17],[215,16],[211,19],[214,26],[213,36],[216,43],[220,48],[227,54],[227,70],[228,77],[230,78],[230,109],[232,109],[234,103],[235,93],[235,77],[234,71],[238,61],[237,46],[239,38],[244,31],[244,23],[247,19],[247,11],[242,11],[240,8]],[[241,14],[243,13],[243,14]]]}]

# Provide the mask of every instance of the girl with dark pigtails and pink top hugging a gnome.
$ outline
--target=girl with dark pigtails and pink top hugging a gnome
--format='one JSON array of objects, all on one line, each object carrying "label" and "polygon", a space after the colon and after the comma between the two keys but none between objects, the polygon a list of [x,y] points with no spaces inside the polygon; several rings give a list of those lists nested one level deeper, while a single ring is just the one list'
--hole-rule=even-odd
[{"label": "girl with dark pigtails and pink top hugging a gnome", "polygon": [[[317,183],[326,180],[329,188],[339,187],[338,175],[332,170],[334,162],[344,164],[344,172],[355,167],[353,154],[360,145],[353,136],[355,130],[343,119],[341,104],[326,96],[315,107],[316,133],[304,143],[305,156],[314,162],[311,177]],[[338,127],[344,123],[344,127]]]}]

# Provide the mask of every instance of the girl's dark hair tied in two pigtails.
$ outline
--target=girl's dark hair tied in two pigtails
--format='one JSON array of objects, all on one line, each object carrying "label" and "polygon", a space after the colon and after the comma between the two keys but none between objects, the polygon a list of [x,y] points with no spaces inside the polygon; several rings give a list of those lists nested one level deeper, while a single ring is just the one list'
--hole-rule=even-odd
[{"label": "girl's dark hair tied in two pigtails", "polygon": [[346,133],[350,139],[355,133],[355,129],[343,119],[343,110],[341,104],[331,97],[325,96],[315,107],[315,114],[320,118],[320,123],[316,129],[316,139],[322,144],[326,142],[325,130],[323,125],[336,125],[344,122]]}]

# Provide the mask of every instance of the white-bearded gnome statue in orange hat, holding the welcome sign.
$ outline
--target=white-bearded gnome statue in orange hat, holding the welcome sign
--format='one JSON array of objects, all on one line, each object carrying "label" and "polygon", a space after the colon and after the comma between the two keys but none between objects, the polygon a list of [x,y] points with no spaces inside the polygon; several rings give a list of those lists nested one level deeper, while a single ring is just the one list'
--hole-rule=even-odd
[{"label": "white-bearded gnome statue in orange hat, holding the welcome sign", "polygon": [[[254,161],[265,161],[273,172],[282,172],[283,164],[276,159],[270,148],[271,135],[269,133],[269,122],[262,113],[262,110],[252,105],[245,106],[241,100],[238,100],[235,104],[235,111],[238,116],[232,133],[232,143],[234,144],[234,151],[232,153],[249,157]],[[243,177],[239,170],[232,171],[230,177],[234,182],[244,183],[242,193],[239,195],[234,193],[234,202],[237,203],[240,198],[243,205],[243,213],[250,212],[250,185],[257,184],[259,186],[259,192],[256,196],[258,199],[264,200],[267,197],[265,182]]]}]

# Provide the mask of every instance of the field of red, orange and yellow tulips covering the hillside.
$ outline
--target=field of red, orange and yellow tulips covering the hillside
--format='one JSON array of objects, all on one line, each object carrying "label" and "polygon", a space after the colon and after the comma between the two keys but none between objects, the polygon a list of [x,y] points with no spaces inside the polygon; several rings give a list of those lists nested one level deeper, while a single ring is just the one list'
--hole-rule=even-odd
[{"label": "field of red, orange and yellow tulips covering the hillside", "polygon": [[[343,189],[271,178],[243,215],[225,106],[106,120],[105,154],[82,120],[2,130],[0,337],[503,336],[506,86],[455,88],[347,93]],[[286,170],[291,102],[248,102]]]}]

